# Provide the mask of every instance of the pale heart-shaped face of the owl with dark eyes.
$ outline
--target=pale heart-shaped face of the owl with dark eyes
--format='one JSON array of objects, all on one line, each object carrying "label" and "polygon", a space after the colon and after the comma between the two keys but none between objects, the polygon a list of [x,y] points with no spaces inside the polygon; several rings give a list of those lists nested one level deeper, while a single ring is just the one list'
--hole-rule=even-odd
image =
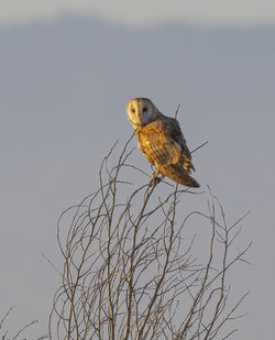
[{"label": "pale heart-shaped face of the owl with dark eyes", "polygon": [[152,121],[154,107],[147,98],[130,99],[127,106],[127,116],[134,129]]}]

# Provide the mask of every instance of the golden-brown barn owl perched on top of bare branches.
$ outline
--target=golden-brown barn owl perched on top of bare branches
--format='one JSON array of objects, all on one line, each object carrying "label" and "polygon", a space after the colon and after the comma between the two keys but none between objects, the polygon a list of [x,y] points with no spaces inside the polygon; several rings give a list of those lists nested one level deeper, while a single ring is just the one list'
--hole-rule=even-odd
[{"label": "golden-brown barn owl perched on top of bare branches", "polygon": [[175,118],[161,113],[147,98],[130,99],[127,116],[141,152],[156,167],[151,185],[156,184],[157,175],[162,174],[185,186],[199,187],[189,175],[190,169],[195,171],[191,154]]}]

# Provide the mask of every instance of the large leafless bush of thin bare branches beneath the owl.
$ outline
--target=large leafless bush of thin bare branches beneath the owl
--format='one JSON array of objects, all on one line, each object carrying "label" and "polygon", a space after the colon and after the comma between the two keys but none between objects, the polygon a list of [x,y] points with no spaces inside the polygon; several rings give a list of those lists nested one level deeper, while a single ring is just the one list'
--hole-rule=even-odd
[{"label": "large leafless bush of thin bare branches beneath the owl", "polygon": [[[210,190],[198,194],[207,195],[208,213],[184,215],[184,200],[195,193],[163,182],[150,187],[130,141],[121,150],[113,145],[99,169],[98,189],[58,219],[63,268],[45,257],[62,277],[50,338],[228,339],[237,330],[224,326],[239,317],[246,297],[229,304],[229,268],[245,263],[251,246],[235,251],[243,218],[228,226]],[[208,228],[200,261],[198,238],[188,228],[195,219]]]}]

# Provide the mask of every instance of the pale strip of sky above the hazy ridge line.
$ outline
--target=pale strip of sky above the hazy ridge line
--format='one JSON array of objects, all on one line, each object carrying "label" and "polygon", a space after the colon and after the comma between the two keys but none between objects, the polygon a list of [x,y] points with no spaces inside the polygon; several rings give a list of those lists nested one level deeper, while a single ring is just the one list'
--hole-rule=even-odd
[{"label": "pale strip of sky above the hazy ridge line", "polygon": [[62,15],[88,17],[138,28],[164,23],[216,26],[275,24],[275,4],[270,0],[174,0],[172,3],[162,0],[47,0],[38,3],[24,0],[16,6],[11,1],[1,1],[0,7],[0,25],[51,24]]}]

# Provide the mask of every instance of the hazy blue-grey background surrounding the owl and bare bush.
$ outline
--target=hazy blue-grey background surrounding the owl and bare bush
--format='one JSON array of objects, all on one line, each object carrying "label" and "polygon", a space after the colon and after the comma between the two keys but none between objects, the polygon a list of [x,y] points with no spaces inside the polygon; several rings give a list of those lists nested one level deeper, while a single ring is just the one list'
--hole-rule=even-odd
[{"label": "hazy blue-grey background surrounding the owl and bare bush", "polygon": [[234,339],[274,338],[275,11],[248,2],[198,13],[151,1],[157,19],[141,21],[136,2],[0,2],[0,312],[16,305],[11,329],[37,318],[46,332],[59,278],[42,254],[61,264],[57,217],[95,190],[100,160],[132,133],[127,101],[144,96],[166,114],[183,105],[190,149],[210,142],[194,156],[196,178],[229,220],[252,211],[241,239],[254,242],[252,266],[232,275],[237,292],[251,290],[249,316]]}]

